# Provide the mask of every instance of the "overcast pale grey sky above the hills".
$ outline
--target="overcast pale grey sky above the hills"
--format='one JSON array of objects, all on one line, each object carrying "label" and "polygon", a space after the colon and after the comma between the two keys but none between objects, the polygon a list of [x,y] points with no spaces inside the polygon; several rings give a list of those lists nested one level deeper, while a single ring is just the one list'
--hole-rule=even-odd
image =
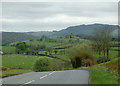
[{"label": "overcast pale grey sky above the hills", "polygon": [[118,2],[2,2],[2,31],[53,31],[82,24],[118,24]]}]

